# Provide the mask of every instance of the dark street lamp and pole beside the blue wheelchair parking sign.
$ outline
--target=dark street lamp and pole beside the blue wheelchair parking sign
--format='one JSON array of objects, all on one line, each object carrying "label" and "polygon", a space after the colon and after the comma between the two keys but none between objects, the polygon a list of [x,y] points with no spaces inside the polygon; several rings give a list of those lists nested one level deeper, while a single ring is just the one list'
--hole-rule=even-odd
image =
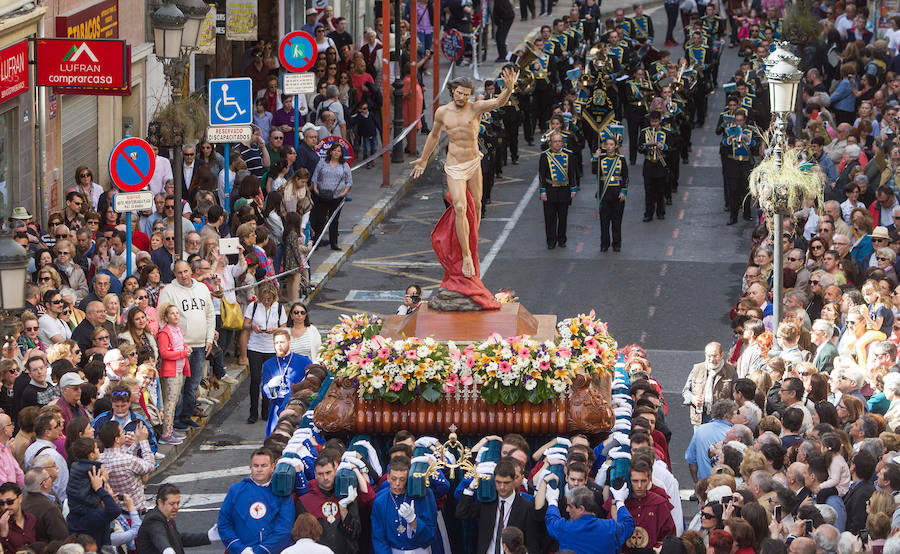
[{"label": "dark street lamp and pole beside the blue wheelchair parking sign", "polygon": [[[181,102],[181,84],[190,61],[191,51],[197,49],[200,40],[200,27],[206,18],[209,5],[202,0],[175,0],[167,2],[153,12],[153,42],[156,57],[163,64],[163,74],[172,91],[172,104]],[[175,257],[181,257],[183,245],[182,221],[182,188],[184,173],[182,172],[181,147],[184,137],[174,142],[175,148],[175,210],[172,214],[175,222]]]}]

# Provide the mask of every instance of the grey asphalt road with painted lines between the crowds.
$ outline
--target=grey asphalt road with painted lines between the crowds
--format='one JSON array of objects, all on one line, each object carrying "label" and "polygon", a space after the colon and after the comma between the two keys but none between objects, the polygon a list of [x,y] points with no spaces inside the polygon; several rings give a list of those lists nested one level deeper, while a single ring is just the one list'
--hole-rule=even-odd
[{"label": "grey asphalt road with painted lines between the crowds", "polygon": [[[656,28],[665,29],[663,11],[652,12]],[[720,81],[726,81],[737,65],[734,50],[727,50]],[[564,318],[595,310],[609,323],[620,346],[637,343],[649,350],[653,375],[662,383],[669,404],[667,421],[674,432],[670,451],[685,499],[693,487],[684,462],[691,427],[679,393],[692,364],[702,360],[707,342],[730,344],[727,313],[739,292],[752,229],[744,222],[725,225],[728,216],[722,211],[721,167],[713,132],[723,105],[719,88],[709,99],[705,127],[694,130],[690,163],[681,168],[681,183],[665,220],[641,221],[642,158],[630,167],[621,252],[600,252],[594,199],[598,184],[587,154],[581,190],[569,210],[568,247],[547,249],[537,194],[538,150],[522,139],[519,164],[506,166],[498,178],[480,229],[482,279],[490,290],[513,288],[535,314]],[[429,233],[443,210],[442,183],[420,179],[314,299],[313,322],[327,329],[340,314],[390,315],[407,285],[418,283],[426,291],[439,286],[442,271]],[[151,493],[161,482],[182,489],[183,530],[211,526],[227,487],[248,475],[249,454],[261,444],[264,426],[244,422],[247,406],[245,385],[196,445],[148,485]],[[689,504],[684,504],[686,514],[696,510]],[[192,551],[221,552],[221,547]]]}]

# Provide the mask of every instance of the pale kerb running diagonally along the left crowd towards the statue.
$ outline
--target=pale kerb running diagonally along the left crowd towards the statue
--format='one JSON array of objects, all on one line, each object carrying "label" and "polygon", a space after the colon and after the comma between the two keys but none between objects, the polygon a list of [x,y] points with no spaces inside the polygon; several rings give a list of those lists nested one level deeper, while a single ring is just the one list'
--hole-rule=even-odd
[{"label": "pale kerb running diagonally along the left crowd towards the statue", "polygon": [[[428,167],[431,167],[432,164],[435,163],[438,153],[446,146],[447,140],[446,135],[443,135],[437,146],[434,148],[434,151],[431,153],[431,157],[428,160]],[[402,164],[398,165],[403,167]],[[428,171],[428,167],[426,167],[426,171]],[[397,202],[400,201],[403,195],[406,194],[406,191],[412,187],[413,182],[413,179],[408,174],[403,177],[402,181],[395,181],[386,191],[387,194],[383,195],[371,208],[366,210],[365,215],[363,215],[359,222],[353,226],[353,232],[346,237],[347,242],[340,241],[343,250],[340,252],[333,252],[324,262],[320,263],[315,268],[314,272],[310,273],[310,281],[316,283],[316,286],[309,294],[307,300],[315,298],[334,274],[347,263],[350,256],[356,252],[369,235],[372,234],[372,230],[384,220],[384,217],[388,212],[390,212]]]}]

